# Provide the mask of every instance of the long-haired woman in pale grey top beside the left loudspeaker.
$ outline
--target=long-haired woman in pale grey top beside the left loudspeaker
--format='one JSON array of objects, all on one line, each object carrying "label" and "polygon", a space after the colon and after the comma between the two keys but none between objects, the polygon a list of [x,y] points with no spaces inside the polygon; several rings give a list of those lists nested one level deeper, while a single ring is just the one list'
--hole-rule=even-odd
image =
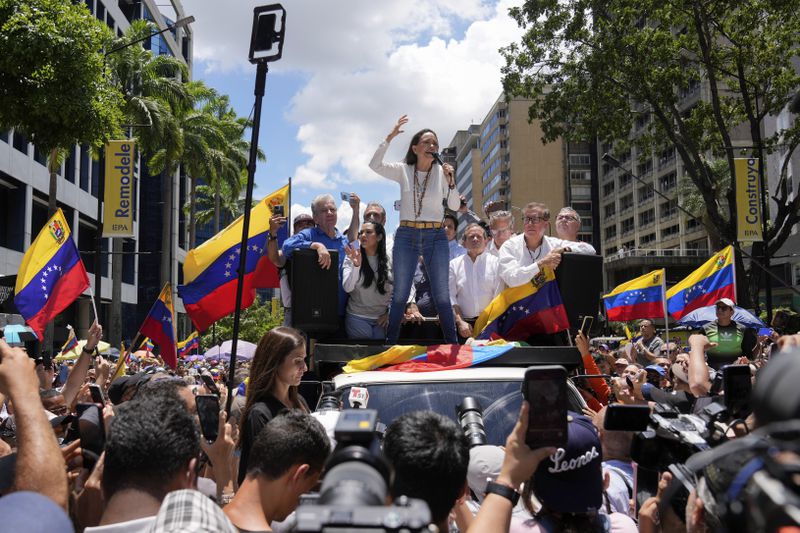
[{"label": "long-haired woman in pale grey top beside the left loudspeaker", "polygon": [[392,266],[386,255],[386,231],[378,222],[365,222],[358,232],[359,247],[345,248],[342,285],[350,294],[344,326],[351,339],[385,339],[392,298]]}]

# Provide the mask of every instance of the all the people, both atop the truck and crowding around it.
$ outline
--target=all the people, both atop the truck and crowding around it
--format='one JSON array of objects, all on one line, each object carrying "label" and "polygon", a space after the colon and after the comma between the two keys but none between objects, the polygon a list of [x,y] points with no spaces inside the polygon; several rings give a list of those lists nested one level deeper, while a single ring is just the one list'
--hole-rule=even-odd
[{"label": "all the people, both atop the truck and crowding around it", "polygon": [[[558,237],[552,237],[546,234],[549,208],[536,202],[522,209],[523,233],[514,234],[511,212],[493,210],[487,223],[467,223],[457,242],[459,220],[444,206],[466,208],[452,167],[437,162],[436,134],[419,131],[404,161],[383,161],[407,122],[398,120],[370,164],[400,184],[394,235],[386,232],[380,204],[368,204],[359,223],[355,193],[349,194],[354,217],[346,235],[336,229],[330,195],[314,200],[311,217],[293,220],[294,234],[280,248],[277,231],[287,220],[270,220],[267,249],[276,265],[284,267],[308,248],[321,268],[338,269],[339,334],[393,344],[403,323],[436,317],[446,342],[463,342],[505,287],[556,269],[564,251],[595,253],[577,241],[578,213],[562,209]],[[331,250],[338,252],[338,265]],[[282,284],[288,294],[291,283]],[[731,366],[745,368],[755,385],[753,402],[724,428],[723,440],[800,416],[794,385],[800,335],[758,335],[732,320],[732,301],[715,305],[717,319],[689,336],[686,346],[661,338],[651,320],[642,320],[639,333],[619,346],[578,331],[581,365],[570,380],[585,407],[568,413],[562,446],[526,443],[528,415],[538,407],[526,401],[504,447],[471,446],[457,422],[433,411],[385,421],[373,452],[387,465],[376,475],[389,500],[421,500],[438,531],[720,528],[720,495],[730,493],[736,472],[697,474],[683,507],[676,507],[667,496],[674,474],[658,471],[658,490],[640,500],[636,434],[607,427],[620,405],[705,413],[727,392],[717,376]],[[175,370],[139,362],[116,376],[115,366],[96,353],[102,333],[93,324],[80,356],[61,367],[0,340],[0,530],[291,530],[301,496],[318,489],[337,449],[328,419],[300,394],[308,371],[306,336],[289,325],[265,333],[229,390],[222,384],[229,371],[224,361],[181,361]],[[782,460],[796,466],[796,457]],[[366,478],[353,480],[348,490],[367,485]],[[373,505],[384,503],[379,498]]]}]

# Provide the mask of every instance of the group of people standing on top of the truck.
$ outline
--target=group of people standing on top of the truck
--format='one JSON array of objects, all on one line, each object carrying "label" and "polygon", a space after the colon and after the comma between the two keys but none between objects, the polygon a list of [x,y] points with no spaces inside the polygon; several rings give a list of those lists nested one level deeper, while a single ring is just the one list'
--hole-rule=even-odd
[{"label": "group of people standing on top of the truck", "polygon": [[[403,161],[388,163],[390,143],[403,133],[408,117],[402,116],[370,161],[370,168],[400,185],[400,224],[387,234],[386,209],[370,202],[359,227],[360,198],[349,193],[353,217],[346,234],[336,228],[333,196],[323,194],[311,203],[312,220],[298,215],[293,235],[281,249],[278,230],[287,223],[281,215],[270,220],[269,257],[279,268],[298,249],[312,249],[324,269],[333,268],[331,251],[337,252],[339,280],[339,330],[334,337],[385,340],[430,335],[414,328],[426,318],[435,319],[445,342],[464,342],[480,312],[506,287],[528,283],[539,271],[557,268],[564,251],[596,253],[577,240],[580,215],[565,207],[556,218],[558,237],[546,235],[550,227],[548,206],[530,202],[522,209],[524,232],[514,234],[511,212],[487,209],[488,221],[467,209],[455,188],[453,167],[439,159],[436,133],[415,133]],[[462,242],[457,239],[457,214],[471,220]],[[356,231],[356,228],[359,228]],[[295,280],[302,283],[303,280]],[[291,306],[290,283],[282,282],[284,306]],[[284,314],[290,325],[291,313]]]}]

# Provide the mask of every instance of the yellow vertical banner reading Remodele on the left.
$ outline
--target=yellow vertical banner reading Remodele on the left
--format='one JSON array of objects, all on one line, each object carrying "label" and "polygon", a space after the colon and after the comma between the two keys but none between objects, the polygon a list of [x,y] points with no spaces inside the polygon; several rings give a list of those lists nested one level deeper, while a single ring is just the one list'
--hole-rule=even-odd
[{"label": "yellow vertical banner reading Remodele on the left", "polygon": [[108,141],[103,237],[133,237],[134,141]]}]

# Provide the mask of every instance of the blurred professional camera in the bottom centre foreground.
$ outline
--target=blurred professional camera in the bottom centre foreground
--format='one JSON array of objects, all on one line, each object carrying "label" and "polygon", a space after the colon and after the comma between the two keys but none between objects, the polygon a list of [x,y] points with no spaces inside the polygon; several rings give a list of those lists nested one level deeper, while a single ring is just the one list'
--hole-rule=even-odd
[{"label": "blurred professional camera in the bottom centre foreground", "polygon": [[297,508],[295,531],[427,531],[431,513],[424,501],[402,497],[385,505],[391,468],[380,449],[378,427],[374,409],[339,414],[336,450],[325,464],[319,497]]}]

